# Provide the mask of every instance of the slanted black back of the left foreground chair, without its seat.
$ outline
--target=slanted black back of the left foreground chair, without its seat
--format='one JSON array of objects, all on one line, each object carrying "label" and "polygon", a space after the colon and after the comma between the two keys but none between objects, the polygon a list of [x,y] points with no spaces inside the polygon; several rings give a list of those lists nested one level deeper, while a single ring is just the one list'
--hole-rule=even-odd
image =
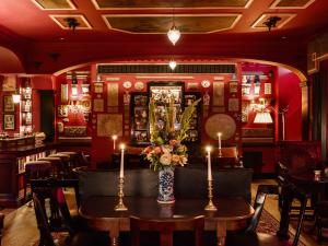
[{"label": "slanted black back of the left foreground chair, without its seat", "polygon": [[39,245],[56,246],[50,233],[50,226],[47,220],[45,206],[40,202],[36,194],[33,194],[33,202],[37,229],[39,231]]}]

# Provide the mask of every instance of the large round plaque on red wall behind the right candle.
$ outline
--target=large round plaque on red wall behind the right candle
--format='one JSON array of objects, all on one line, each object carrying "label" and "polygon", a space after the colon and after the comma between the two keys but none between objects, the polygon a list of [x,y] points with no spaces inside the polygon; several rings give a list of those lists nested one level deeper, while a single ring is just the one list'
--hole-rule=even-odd
[{"label": "large round plaque on red wall behind the right candle", "polygon": [[208,118],[206,122],[206,132],[214,140],[218,140],[218,132],[221,132],[221,139],[227,140],[236,132],[236,122],[226,114],[215,114]]}]

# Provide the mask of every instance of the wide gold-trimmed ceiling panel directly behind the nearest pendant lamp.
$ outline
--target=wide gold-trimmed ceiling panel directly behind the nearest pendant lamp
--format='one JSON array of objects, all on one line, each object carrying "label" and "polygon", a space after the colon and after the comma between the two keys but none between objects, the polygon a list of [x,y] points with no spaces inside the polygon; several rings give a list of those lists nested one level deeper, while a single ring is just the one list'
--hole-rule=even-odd
[{"label": "wide gold-trimmed ceiling panel directly behind the nearest pendant lamp", "polygon": [[[172,15],[103,15],[109,28],[136,34],[160,34],[171,28]],[[183,33],[213,33],[232,28],[239,14],[175,15],[175,25]]]}]

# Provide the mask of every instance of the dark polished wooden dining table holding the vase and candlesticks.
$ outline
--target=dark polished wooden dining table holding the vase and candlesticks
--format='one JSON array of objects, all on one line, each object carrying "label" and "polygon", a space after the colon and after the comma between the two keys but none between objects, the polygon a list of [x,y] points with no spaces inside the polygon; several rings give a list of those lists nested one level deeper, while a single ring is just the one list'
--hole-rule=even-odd
[{"label": "dark polished wooden dining table holding the vase and candlesticks", "polygon": [[226,231],[246,227],[254,214],[251,206],[239,197],[214,199],[218,211],[206,211],[208,201],[203,199],[177,199],[175,203],[163,204],[155,198],[126,197],[127,211],[115,211],[117,202],[117,197],[90,197],[79,210],[91,229],[109,233],[112,246],[119,244],[119,232],[130,231],[130,215],[157,220],[204,215],[204,230],[216,231],[218,245],[225,245]]}]

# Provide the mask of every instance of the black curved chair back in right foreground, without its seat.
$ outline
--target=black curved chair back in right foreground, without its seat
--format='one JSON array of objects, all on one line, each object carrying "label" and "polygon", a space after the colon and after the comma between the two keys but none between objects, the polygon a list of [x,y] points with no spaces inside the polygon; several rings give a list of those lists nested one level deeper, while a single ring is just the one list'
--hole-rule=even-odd
[{"label": "black curved chair back in right foreground, without its seat", "polygon": [[280,238],[289,238],[289,226],[290,226],[290,218],[291,218],[291,209],[292,209],[292,202],[294,200],[297,200],[300,202],[300,209],[297,214],[297,225],[295,230],[295,236],[294,241],[292,243],[292,246],[297,246],[300,235],[301,235],[301,227],[302,222],[305,214],[306,209],[306,195],[301,192],[294,185],[288,184],[282,187],[282,210],[281,210],[281,219],[280,219],[280,226],[279,231],[277,232],[277,235]]}]

